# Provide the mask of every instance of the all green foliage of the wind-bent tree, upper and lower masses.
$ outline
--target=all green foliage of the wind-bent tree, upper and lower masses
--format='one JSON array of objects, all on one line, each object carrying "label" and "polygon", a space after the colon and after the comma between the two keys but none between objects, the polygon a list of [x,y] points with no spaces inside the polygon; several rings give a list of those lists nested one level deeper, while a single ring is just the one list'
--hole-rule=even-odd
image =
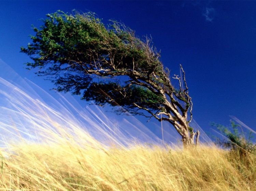
[{"label": "all green foliage of the wind-bent tree, upper and lower masses", "polygon": [[[72,16],[58,11],[46,16],[44,25],[34,28],[33,43],[21,47],[21,52],[33,60],[26,63],[28,69],[38,67],[36,74],[51,76],[56,90],[76,95],[83,91],[82,99],[95,100],[99,105],[118,102],[120,106],[128,106],[135,102],[150,109],[161,107],[162,97],[147,87],[128,81],[121,84],[115,80],[100,81],[115,76],[128,76],[132,80],[136,78],[133,71],[142,78],[148,78],[154,71],[158,76],[156,83],[161,81],[159,54],[148,52],[147,44],[135,37],[133,31],[117,22],[106,28],[93,13]],[[95,77],[101,77],[99,83],[93,82]]]}]

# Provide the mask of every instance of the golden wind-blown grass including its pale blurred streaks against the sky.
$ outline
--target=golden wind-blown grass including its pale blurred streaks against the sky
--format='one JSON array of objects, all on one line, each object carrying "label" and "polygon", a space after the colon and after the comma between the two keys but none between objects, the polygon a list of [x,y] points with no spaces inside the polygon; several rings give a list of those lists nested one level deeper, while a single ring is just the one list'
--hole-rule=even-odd
[{"label": "golden wind-blown grass including its pale blurred streaks against the sky", "polygon": [[56,107],[0,78],[0,190],[256,191],[255,155],[162,146],[140,126],[131,134],[49,99]]}]

